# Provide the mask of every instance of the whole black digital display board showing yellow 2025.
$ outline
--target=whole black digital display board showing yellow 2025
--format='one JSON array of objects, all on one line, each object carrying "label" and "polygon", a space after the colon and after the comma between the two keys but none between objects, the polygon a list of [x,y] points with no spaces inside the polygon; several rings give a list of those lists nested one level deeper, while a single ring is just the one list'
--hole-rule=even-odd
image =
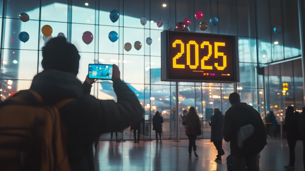
[{"label": "whole black digital display board showing yellow 2025", "polygon": [[178,82],[239,82],[237,37],[163,31],[161,80]]}]

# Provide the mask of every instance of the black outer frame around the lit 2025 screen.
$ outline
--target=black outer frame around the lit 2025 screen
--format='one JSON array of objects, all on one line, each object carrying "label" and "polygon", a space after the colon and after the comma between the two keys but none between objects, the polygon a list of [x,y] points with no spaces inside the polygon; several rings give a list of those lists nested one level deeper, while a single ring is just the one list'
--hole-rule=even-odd
[{"label": "black outer frame around the lit 2025 screen", "polygon": [[[207,38],[217,38],[217,39],[230,39],[232,41],[232,72],[233,77],[229,79],[211,79],[211,77],[198,77],[197,78],[177,78],[177,76],[170,75],[169,67],[172,62],[173,57],[169,57],[169,42],[170,36],[183,36],[183,37],[207,37]],[[187,42],[184,42],[186,46]],[[198,42],[199,43],[199,42]],[[201,43],[201,42],[200,42]],[[200,46],[200,44],[199,44]],[[179,46],[180,47],[180,46]],[[186,51],[185,51],[186,52]],[[174,81],[174,82],[200,82],[200,83],[235,83],[239,82],[239,57],[238,57],[238,37],[221,35],[221,34],[206,34],[206,33],[195,33],[195,32],[182,32],[182,31],[169,31],[165,30],[161,32],[161,81]],[[199,56],[201,56],[199,54]],[[170,60],[170,61],[169,61]],[[172,78],[176,77],[176,78]],[[185,76],[183,76],[185,77]]]}]

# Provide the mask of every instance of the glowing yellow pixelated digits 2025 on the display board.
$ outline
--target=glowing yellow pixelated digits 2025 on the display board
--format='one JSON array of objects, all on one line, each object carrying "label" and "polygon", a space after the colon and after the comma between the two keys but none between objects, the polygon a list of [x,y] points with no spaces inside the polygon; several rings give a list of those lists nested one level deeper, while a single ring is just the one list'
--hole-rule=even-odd
[{"label": "glowing yellow pixelated digits 2025 on the display board", "polygon": [[[181,40],[176,40],[173,43],[173,48],[176,47],[176,44],[180,44],[181,45],[181,52],[178,53],[174,58],[173,58],[173,68],[185,68],[185,65],[182,64],[177,64],[177,59],[180,58],[182,56],[182,54],[184,53],[184,43]],[[191,52],[190,52],[190,45],[195,45],[195,65],[191,65]],[[204,41],[200,48],[204,48],[204,46],[207,45],[208,46],[208,55],[204,56],[201,59],[201,69],[213,69],[213,66],[205,66],[204,65],[204,61],[207,61],[208,59],[210,59],[210,56],[212,55],[212,45],[210,45],[210,42],[208,41]],[[224,53],[222,52],[218,52],[218,46],[225,46],[225,43],[221,43],[221,42],[215,42],[214,43],[214,56],[215,58],[218,58],[218,56],[223,56],[223,66],[218,66],[218,63],[215,63],[215,67],[218,70],[224,70],[224,68],[227,67],[227,56],[224,55]],[[197,69],[198,65],[199,65],[199,49],[198,49],[198,44],[196,43],[196,41],[189,41],[188,44],[186,45],[186,64],[191,68],[191,69]]]}]

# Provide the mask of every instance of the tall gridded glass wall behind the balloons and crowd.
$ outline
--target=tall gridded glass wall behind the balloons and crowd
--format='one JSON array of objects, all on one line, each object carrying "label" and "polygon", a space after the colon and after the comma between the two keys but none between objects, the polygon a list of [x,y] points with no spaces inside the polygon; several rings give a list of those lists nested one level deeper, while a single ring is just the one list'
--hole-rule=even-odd
[{"label": "tall gridded glass wall behind the balloons and crowd", "polygon": [[[261,115],[264,108],[264,78],[257,75],[257,66],[300,55],[295,2],[275,0],[0,0],[1,23],[1,98],[5,100],[19,90],[28,89],[33,77],[43,70],[41,48],[50,37],[44,37],[41,28],[52,27],[52,37],[63,33],[80,52],[78,79],[84,81],[89,63],[116,64],[121,71],[121,79],[135,92],[145,109],[145,120],[149,124],[146,139],[154,139],[151,119],[158,110],[164,118],[163,138],[175,139],[175,124],[180,126],[180,137],[186,138],[185,128],[175,118],[175,100],[178,98],[179,112],[194,106],[202,119],[203,135],[210,137],[208,120],[212,109],[218,107],[225,112],[231,105],[228,96],[234,92],[234,84],[179,83],[179,96],[175,94],[175,83],[164,82],[160,78],[161,37],[163,30],[175,28],[176,23],[190,19],[190,31],[211,34],[227,34],[239,37],[240,83],[237,92],[242,101],[253,105]],[[267,3],[267,4],[266,4]],[[276,9],[271,8],[273,5]],[[22,8],[21,8],[22,7]],[[109,13],[117,10],[120,14],[116,22],[109,19]],[[195,18],[196,11],[203,11],[203,18]],[[274,11],[276,10],[276,11]],[[30,20],[22,22],[19,15],[26,12]],[[269,12],[271,15],[269,15]],[[265,15],[268,14],[268,15]],[[218,25],[209,23],[211,17],[218,17]],[[141,24],[141,18],[147,22]],[[272,23],[273,20],[279,23]],[[271,22],[272,21],[272,22]],[[162,22],[157,25],[157,23]],[[199,23],[208,23],[205,31]],[[280,26],[282,32],[275,34],[273,27]],[[90,44],[82,40],[83,33],[93,35]],[[115,31],[119,38],[111,42],[108,35]],[[25,43],[19,40],[21,32],[29,34]],[[151,45],[146,38],[152,39]],[[281,38],[282,37],[282,38]],[[141,48],[136,49],[136,41]],[[278,41],[278,45],[274,45]],[[126,43],[132,45],[129,51]],[[99,99],[114,99],[113,83],[99,80],[91,89],[91,94]],[[101,139],[109,139],[104,134]],[[143,137],[143,136],[142,136]],[[129,128],[119,133],[120,139],[132,139]]]}]

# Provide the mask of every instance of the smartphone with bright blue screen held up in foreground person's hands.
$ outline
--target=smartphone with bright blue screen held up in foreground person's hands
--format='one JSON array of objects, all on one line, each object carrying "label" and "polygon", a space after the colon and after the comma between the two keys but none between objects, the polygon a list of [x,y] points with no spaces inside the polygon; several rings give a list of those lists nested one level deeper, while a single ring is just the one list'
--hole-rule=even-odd
[{"label": "smartphone with bright blue screen held up in foreground person's hands", "polygon": [[88,76],[89,76],[89,78],[94,78],[94,79],[111,80],[112,65],[89,64]]}]

